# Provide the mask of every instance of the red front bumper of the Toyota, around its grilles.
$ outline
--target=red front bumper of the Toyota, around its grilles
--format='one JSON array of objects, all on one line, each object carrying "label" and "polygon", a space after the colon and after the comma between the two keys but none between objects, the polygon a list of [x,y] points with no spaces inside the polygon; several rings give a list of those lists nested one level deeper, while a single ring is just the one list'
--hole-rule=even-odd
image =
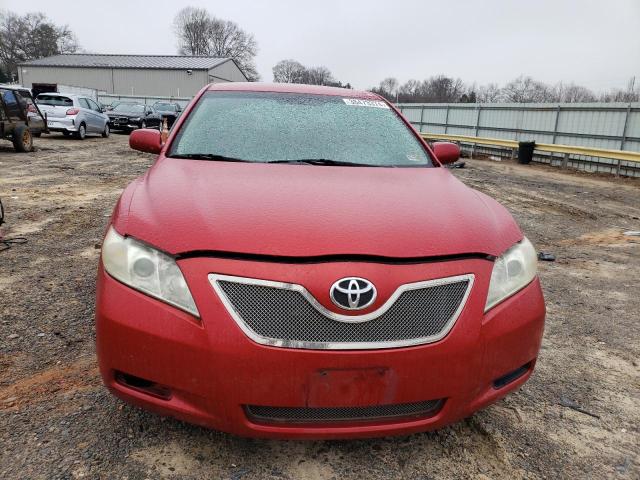
[{"label": "red front bumper of the Toyota, around its grilles", "polygon": [[[545,307],[538,280],[485,315],[492,268],[486,260],[292,265],[197,258],[179,263],[200,320],[122,285],[100,267],[100,371],[111,392],[129,403],[221,431],[252,437],[355,438],[436,429],[522,385],[540,348]],[[438,342],[326,351],[253,342],[216,296],[209,273],[296,283],[310,279],[305,286],[319,301],[325,285],[354,274],[373,281],[381,296],[402,283],[463,273],[474,273],[476,282],[456,324]],[[494,383],[523,366],[511,382]],[[376,377],[375,372],[384,373]],[[127,384],[123,374],[154,382],[158,390]],[[247,405],[369,407],[439,399],[439,410],[426,417],[288,424],[256,421],[246,413]]]}]

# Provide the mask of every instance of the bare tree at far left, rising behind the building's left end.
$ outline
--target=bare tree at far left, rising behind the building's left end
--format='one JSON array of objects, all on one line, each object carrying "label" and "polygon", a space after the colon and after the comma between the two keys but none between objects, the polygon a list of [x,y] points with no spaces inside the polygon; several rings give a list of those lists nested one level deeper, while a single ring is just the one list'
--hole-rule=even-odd
[{"label": "bare tree at far left, rising behind the building's left end", "polygon": [[15,75],[21,62],[77,50],[73,32],[44,14],[0,11],[0,66],[7,76]]}]

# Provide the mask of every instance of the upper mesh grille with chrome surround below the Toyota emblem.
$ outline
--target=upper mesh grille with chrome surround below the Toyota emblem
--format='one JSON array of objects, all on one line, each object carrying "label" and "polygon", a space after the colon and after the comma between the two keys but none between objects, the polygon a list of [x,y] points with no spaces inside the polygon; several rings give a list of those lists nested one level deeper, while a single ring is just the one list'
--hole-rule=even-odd
[{"label": "upper mesh grille with chrome surround below the Toyota emblem", "polygon": [[376,312],[337,315],[302,286],[210,275],[225,306],[258,343],[289,348],[393,348],[443,338],[473,283],[461,275],[401,286]]}]

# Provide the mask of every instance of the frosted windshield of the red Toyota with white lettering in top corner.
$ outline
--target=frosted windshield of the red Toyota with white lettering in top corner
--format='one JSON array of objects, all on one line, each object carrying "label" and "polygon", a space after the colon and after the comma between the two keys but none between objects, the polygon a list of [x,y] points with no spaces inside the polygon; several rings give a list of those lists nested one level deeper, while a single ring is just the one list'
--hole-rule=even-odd
[{"label": "frosted windshield of the red Toyota with white lettering in top corner", "polygon": [[208,92],[169,156],[432,166],[421,142],[385,102],[274,92]]}]

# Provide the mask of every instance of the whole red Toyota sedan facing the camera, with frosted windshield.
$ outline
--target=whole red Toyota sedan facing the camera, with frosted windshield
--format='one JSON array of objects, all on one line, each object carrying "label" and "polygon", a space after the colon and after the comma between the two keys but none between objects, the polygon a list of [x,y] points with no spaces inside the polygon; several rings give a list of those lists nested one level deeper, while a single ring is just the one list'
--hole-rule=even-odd
[{"label": "whole red Toyota sedan facing the camera, with frosted windshield", "polygon": [[204,88],[119,199],[102,248],[106,386],[238,435],[442,427],[531,375],[536,252],[368,92]]}]

